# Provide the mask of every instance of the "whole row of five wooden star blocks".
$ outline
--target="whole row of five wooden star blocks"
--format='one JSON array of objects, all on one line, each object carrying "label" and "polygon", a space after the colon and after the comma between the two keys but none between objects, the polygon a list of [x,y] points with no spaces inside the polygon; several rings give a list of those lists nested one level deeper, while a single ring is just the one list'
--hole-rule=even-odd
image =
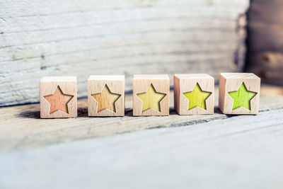
[{"label": "whole row of five wooden star blocks", "polygon": [[[77,117],[76,76],[47,76],[40,81],[40,117]],[[169,115],[168,75],[134,75],[133,115]],[[257,114],[260,78],[221,73],[219,108],[224,114]],[[214,78],[208,74],[175,74],[174,107],[179,115],[214,113]],[[88,115],[125,115],[125,76],[90,76]]]}]

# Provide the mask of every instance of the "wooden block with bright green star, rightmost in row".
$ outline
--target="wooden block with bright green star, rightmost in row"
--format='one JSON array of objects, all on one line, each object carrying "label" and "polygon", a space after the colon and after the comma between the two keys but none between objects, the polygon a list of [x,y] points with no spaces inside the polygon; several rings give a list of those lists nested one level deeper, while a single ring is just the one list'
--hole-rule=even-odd
[{"label": "wooden block with bright green star, rightmost in row", "polygon": [[225,114],[258,114],[260,78],[251,73],[221,73],[219,108]]}]

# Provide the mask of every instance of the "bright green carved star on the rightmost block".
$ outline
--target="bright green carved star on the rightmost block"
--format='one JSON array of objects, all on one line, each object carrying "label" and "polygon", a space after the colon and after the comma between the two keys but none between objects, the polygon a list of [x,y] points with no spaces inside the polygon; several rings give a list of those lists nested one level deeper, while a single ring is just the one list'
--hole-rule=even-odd
[{"label": "bright green carved star on the rightmost block", "polygon": [[250,100],[252,100],[256,94],[257,93],[253,91],[248,91],[244,83],[241,84],[238,91],[229,92],[229,96],[231,96],[234,101],[232,110],[240,108],[241,106],[250,110]]}]

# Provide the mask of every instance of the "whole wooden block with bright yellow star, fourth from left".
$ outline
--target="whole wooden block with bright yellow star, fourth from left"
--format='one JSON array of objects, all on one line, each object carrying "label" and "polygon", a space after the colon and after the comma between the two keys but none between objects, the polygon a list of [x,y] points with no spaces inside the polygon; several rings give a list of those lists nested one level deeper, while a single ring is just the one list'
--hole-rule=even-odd
[{"label": "whole wooden block with bright yellow star, fourth from left", "polygon": [[214,78],[208,74],[175,74],[174,107],[179,115],[214,113]]}]

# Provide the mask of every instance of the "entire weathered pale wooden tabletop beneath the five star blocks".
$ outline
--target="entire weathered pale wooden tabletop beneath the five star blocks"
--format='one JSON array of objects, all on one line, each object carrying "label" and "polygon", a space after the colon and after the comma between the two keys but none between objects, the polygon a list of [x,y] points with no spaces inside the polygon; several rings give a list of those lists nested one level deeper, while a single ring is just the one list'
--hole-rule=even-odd
[{"label": "entire weathered pale wooden tabletop beneath the five star blocks", "polygon": [[134,118],[131,106],[88,118],[83,99],[79,118],[53,120],[38,104],[1,108],[0,188],[283,188],[283,96],[262,95],[258,115]]}]

